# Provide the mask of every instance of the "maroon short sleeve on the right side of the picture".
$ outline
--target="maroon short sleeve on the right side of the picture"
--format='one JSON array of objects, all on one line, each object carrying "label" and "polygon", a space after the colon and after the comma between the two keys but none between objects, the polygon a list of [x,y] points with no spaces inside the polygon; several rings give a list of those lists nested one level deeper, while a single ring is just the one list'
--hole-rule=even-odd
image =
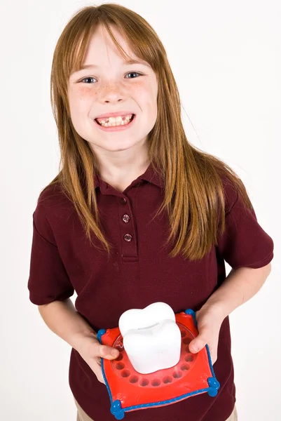
[{"label": "maroon short sleeve on the right side of the picture", "polygon": [[254,208],[247,208],[231,185],[226,185],[225,192],[226,229],[219,233],[219,255],[233,269],[268,265],[273,259],[273,239],[259,225]]}]

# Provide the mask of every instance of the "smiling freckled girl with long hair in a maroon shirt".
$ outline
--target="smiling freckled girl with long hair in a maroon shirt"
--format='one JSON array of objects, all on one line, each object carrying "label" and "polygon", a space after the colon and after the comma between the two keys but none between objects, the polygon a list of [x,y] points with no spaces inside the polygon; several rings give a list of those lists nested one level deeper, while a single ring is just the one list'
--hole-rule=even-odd
[{"label": "smiling freckled girl with long hair in a maroon shirt", "polygon": [[71,345],[77,420],[114,419],[100,357],[118,350],[100,345],[97,330],[157,301],[196,311],[189,350],[209,345],[221,387],[125,419],[237,420],[228,314],[261,288],[273,259],[245,186],[186,139],[165,49],[128,8],[87,6],[71,18],[51,87],[62,161],[33,214],[28,288]]}]

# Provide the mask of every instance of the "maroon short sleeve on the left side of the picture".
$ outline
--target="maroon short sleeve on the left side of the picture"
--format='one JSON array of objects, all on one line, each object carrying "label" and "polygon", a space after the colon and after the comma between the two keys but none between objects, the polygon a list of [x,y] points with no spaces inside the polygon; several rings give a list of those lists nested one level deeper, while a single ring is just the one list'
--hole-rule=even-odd
[{"label": "maroon short sleeve on the left side of the picture", "polygon": [[36,305],[66,300],[74,294],[52,229],[39,206],[33,214],[28,289],[29,300]]}]

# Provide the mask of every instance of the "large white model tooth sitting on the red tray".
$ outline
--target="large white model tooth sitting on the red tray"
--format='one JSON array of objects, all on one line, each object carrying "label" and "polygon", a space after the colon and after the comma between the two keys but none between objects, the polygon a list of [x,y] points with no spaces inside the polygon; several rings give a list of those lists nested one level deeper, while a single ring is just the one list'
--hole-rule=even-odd
[{"label": "large white model tooth sitting on the red tray", "polygon": [[138,373],[175,366],[181,354],[181,332],[174,312],[165,302],[130,309],[119,319],[125,352]]}]

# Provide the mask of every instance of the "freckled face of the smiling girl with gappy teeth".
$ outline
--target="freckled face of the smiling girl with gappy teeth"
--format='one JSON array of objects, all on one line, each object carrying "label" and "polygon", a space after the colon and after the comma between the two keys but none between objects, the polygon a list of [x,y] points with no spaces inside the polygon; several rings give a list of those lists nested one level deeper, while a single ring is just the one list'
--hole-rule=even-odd
[{"label": "freckled face of the smiling girl with gappy teeth", "polygon": [[[114,25],[111,30],[124,51],[133,60],[141,60],[130,51]],[[68,84],[71,121],[76,132],[97,154],[142,148],[157,117],[158,82],[149,63],[125,63],[100,25],[90,39],[83,65],[95,67],[72,73]],[[95,121],[97,116],[112,112],[132,113],[135,118],[128,128],[121,126],[119,130],[104,129]]]}]

